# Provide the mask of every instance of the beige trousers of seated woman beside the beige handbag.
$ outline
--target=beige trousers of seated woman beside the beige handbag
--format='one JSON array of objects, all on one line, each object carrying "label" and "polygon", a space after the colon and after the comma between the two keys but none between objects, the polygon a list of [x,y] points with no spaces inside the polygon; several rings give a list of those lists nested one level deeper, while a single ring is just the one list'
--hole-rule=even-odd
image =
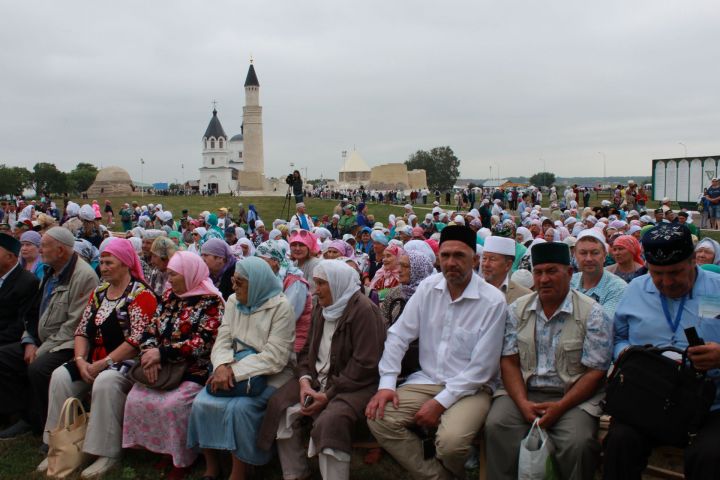
[{"label": "beige trousers of seated woman beside the beige handbag", "polygon": [[133,382],[116,370],[105,370],[92,385],[82,380],[73,382],[64,366],[55,369],[50,378],[48,417],[43,441],[48,432],[57,427],[60,409],[70,397],[82,399],[92,390],[90,422],[88,423],[83,451],[99,457],[119,458],[122,453],[122,421],[125,399]]}]

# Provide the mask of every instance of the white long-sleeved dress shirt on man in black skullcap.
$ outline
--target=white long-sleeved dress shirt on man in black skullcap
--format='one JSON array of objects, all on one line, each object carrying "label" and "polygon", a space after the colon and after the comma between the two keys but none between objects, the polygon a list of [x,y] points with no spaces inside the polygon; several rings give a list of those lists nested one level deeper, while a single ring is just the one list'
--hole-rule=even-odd
[{"label": "white long-sleeved dress shirt on man in black skullcap", "polygon": [[379,388],[395,389],[408,345],[419,339],[421,370],[406,383],[444,385],[435,400],[445,408],[474,395],[496,381],[506,315],[505,296],[479,276],[453,301],[444,275],[431,275],[388,330]]}]

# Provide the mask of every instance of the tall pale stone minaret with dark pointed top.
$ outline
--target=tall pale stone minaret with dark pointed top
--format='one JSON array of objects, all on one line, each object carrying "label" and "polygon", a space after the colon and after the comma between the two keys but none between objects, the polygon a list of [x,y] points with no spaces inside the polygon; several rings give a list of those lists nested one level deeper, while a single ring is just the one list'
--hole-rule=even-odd
[{"label": "tall pale stone minaret with dark pointed top", "polygon": [[265,157],[263,154],[260,82],[255,74],[252,60],[250,60],[250,68],[245,79],[243,143],[245,171],[240,173],[238,185],[241,190],[263,190],[265,188]]}]

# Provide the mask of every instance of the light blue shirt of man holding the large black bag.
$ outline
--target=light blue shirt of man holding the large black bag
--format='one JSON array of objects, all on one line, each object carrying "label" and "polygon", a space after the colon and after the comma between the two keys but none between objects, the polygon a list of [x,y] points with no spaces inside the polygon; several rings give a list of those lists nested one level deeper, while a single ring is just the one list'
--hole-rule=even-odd
[{"label": "light blue shirt of man holding the large black bag", "polygon": [[[688,346],[685,329],[695,327],[705,342],[720,343],[720,318],[704,317],[701,307],[718,306],[720,275],[696,268],[697,278],[689,295],[685,297],[680,324],[673,333],[668,325],[660,301],[660,292],[650,274],[637,277],[627,286],[625,296],[615,310],[615,351],[614,358],[630,345],[651,344],[656,347],[673,346],[684,350]],[[674,321],[680,299],[667,299],[670,318]],[[712,410],[720,409],[720,369],[708,371],[715,381],[717,393]]]}]

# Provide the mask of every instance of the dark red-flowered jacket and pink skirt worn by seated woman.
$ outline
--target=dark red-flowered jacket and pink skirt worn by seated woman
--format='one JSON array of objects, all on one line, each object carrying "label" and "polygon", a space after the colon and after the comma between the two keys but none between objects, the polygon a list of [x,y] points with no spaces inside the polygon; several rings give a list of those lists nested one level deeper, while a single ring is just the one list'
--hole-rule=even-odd
[{"label": "dark red-flowered jacket and pink skirt worn by seated woman", "polygon": [[192,402],[209,376],[210,352],[223,312],[224,303],[215,295],[180,298],[172,290],[165,292],[141,348],[157,348],[161,365],[188,361],[189,366],[174,390],[133,386],[125,403],[123,448],[170,455],[178,468],[193,464],[197,453],[185,446],[188,419]]}]

